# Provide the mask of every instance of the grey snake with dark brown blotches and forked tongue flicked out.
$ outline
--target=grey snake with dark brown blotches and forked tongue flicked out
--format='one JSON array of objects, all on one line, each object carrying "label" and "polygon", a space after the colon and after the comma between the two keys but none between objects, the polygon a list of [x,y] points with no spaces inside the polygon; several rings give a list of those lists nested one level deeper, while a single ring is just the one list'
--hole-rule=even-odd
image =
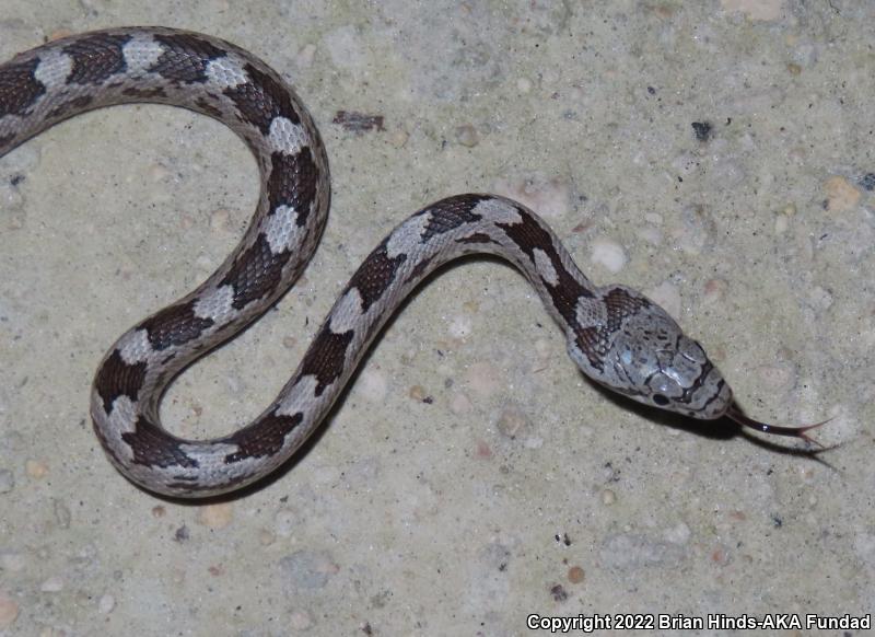
[{"label": "grey snake with dark brown blotches and forked tongue flicked out", "polygon": [[260,175],[258,205],[233,252],[190,293],[121,335],[95,373],[94,432],[112,464],[147,491],[207,498],[275,472],[325,419],[402,301],[432,271],[471,254],[522,273],[597,385],[686,417],[726,416],[808,442],[806,430],[820,425],[748,418],[702,346],[657,303],[626,286],[594,285],[523,204],[463,194],[420,209],[370,253],[257,418],[209,440],[176,437],[159,417],[168,385],[277,303],[311,260],[328,217],[328,158],[298,94],[267,63],[223,39],[159,26],[61,37],[0,66],[0,157],[80,113],[136,102],[218,119],[246,143]]}]

